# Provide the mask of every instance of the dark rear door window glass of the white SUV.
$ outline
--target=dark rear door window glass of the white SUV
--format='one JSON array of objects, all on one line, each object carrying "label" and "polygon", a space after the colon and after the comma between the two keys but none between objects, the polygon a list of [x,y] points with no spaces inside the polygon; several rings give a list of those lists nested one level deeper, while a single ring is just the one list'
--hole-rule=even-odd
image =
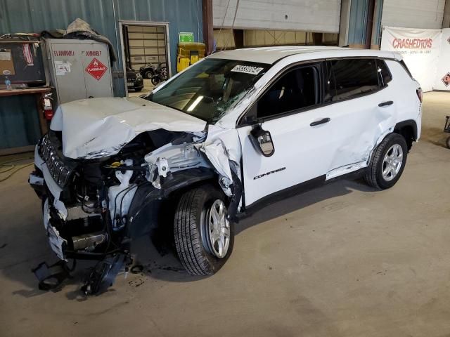
[{"label": "dark rear door window glass of the white SUV", "polygon": [[335,102],[378,90],[375,59],[330,60],[328,63],[328,97]]}]

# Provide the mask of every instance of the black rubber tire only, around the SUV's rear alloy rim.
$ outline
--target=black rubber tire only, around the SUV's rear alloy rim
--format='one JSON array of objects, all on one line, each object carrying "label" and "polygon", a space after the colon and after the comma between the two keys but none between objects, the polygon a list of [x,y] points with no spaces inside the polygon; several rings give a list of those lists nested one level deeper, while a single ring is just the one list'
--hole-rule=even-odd
[{"label": "black rubber tire only, around the SUV's rear alloy rim", "polygon": [[[392,180],[386,180],[383,177],[383,159],[391,147],[396,144],[400,145],[401,150],[403,151],[403,160],[397,176]],[[407,157],[408,146],[406,145],[405,138],[398,133],[390,133],[373,151],[371,161],[369,162],[366,174],[364,175],[364,180],[366,180],[368,185],[378,190],[386,190],[387,188],[394,186],[401,177],[401,173],[403,173]]]}]

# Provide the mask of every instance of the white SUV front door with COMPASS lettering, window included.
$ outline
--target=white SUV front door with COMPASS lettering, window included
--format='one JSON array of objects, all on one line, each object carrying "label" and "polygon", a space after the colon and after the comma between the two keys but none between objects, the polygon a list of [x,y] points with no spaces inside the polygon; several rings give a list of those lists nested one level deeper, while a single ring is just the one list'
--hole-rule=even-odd
[{"label": "white SUV front door with COMPASS lettering, window included", "polygon": [[[259,97],[238,134],[243,152],[245,205],[301,183],[325,180],[335,143],[333,119],[321,105],[321,62],[290,68]],[[252,129],[269,131],[274,154],[253,145]]]}]

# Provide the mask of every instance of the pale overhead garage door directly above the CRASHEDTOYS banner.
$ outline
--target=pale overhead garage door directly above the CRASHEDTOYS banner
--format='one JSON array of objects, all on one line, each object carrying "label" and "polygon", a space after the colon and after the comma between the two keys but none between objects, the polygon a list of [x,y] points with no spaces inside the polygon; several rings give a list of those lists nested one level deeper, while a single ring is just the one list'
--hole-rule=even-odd
[{"label": "pale overhead garage door directly above the CRASHEDTOYS banner", "polygon": [[385,0],[381,25],[441,29],[445,0]]}]

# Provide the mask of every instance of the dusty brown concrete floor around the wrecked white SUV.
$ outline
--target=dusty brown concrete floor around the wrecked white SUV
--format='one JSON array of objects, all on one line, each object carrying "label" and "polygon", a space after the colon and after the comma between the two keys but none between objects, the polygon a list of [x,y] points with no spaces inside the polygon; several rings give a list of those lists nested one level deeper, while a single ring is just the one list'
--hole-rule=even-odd
[{"label": "dusty brown concrete floor around the wrecked white SUV", "polygon": [[[149,239],[146,265],[83,298],[30,269],[55,260],[23,169],[0,183],[0,336],[450,336],[450,93],[425,95],[423,138],[395,187],[339,181],[238,225],[230,260],[190,277]],[[127,334],[127,335],[125,335]]]}]

